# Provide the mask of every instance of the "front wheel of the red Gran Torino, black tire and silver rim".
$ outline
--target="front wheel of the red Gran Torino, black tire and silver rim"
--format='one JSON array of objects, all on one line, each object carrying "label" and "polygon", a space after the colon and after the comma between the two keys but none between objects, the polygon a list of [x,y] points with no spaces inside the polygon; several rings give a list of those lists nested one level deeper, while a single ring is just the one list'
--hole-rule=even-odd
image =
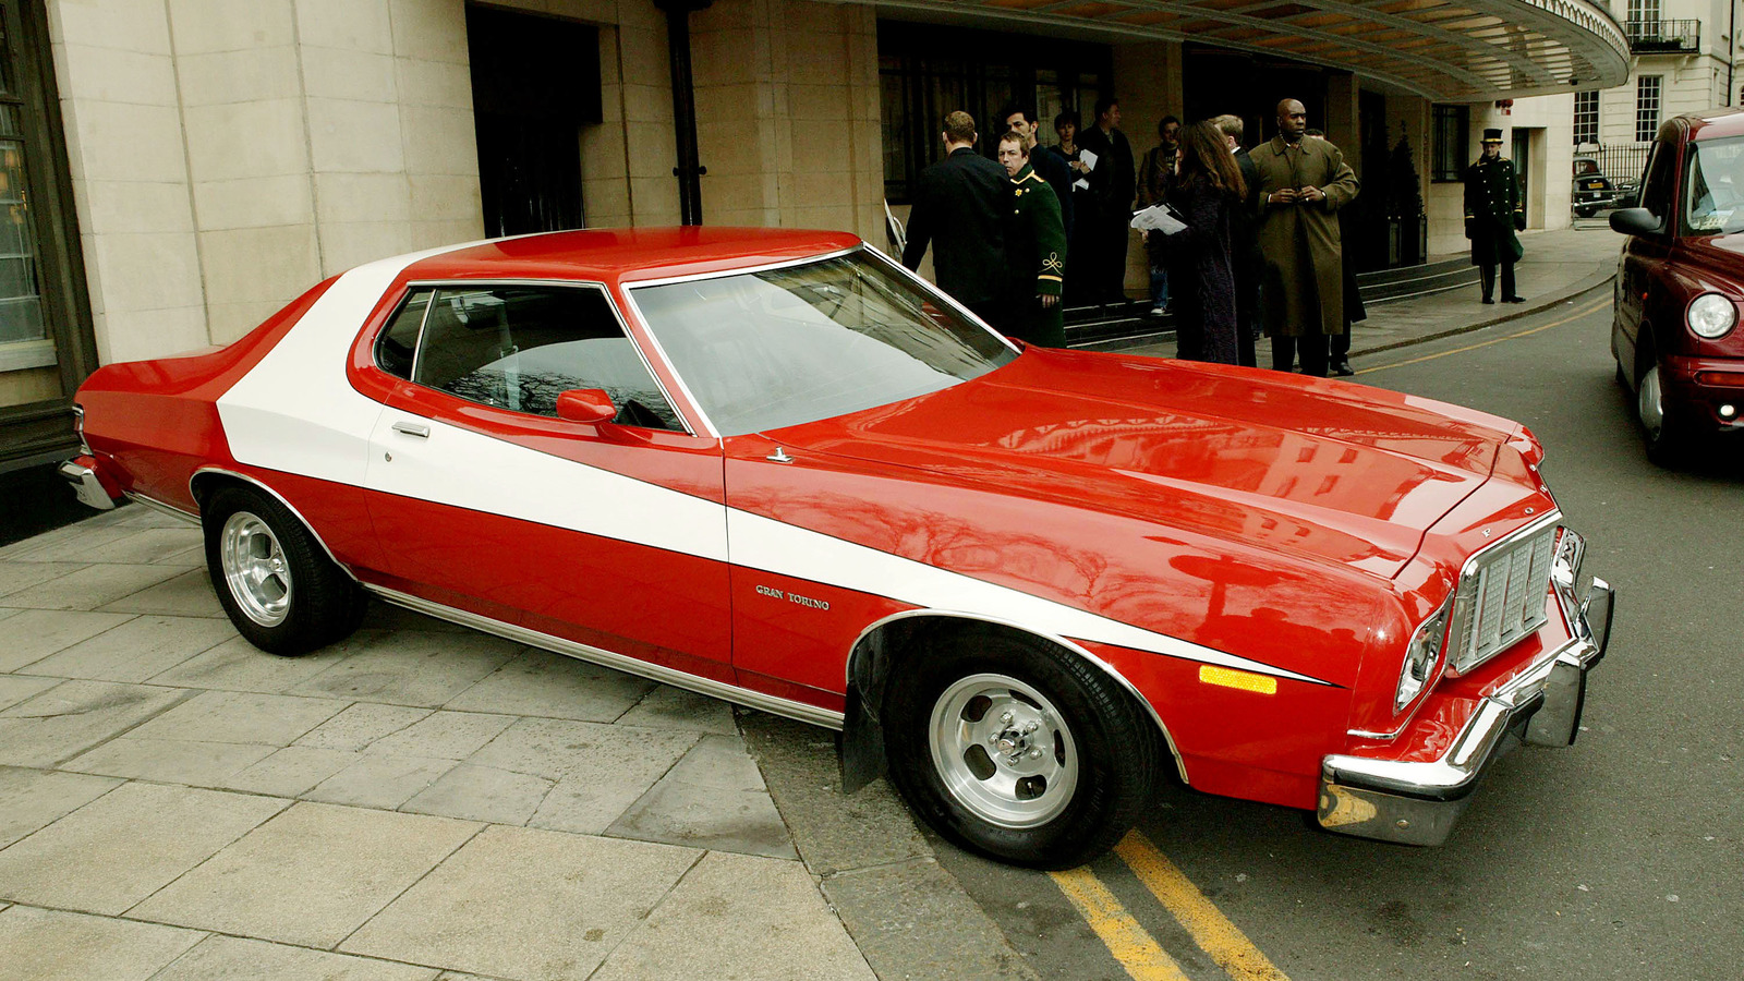
[{"label": "front wheel of the red Gran Torino, black tire and silver rim", "polygon": [[[977,696],[987,698],[980,714]],[[944,719],[937,744],[935,716]],[[1041,737],[1018,733],[1038,719]],[[1081,866],[1113,848],[1149,803],[1163,756],[1151,717],[1100,669],[985,627],[935,637],[898,665],[882,724],[891,780],[916,813],[968,850],[1039,869]],[[1018,735],[1015,756],[1012,742],[980,731],[999,728]],[[991,817],[996,808],[1013,817]]]}]

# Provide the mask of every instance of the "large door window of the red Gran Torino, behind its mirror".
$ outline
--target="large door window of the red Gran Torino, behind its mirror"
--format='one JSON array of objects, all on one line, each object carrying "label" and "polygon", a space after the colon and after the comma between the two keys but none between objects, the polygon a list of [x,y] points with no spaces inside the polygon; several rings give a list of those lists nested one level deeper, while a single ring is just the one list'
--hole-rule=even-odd
[{"label": "large door window of the red Gran Torino, behind its mirror", "polygon": [[553,417],[560,393],[596,388],[624,426],[684,429],[596,288],[438,288],[412,381]]}]

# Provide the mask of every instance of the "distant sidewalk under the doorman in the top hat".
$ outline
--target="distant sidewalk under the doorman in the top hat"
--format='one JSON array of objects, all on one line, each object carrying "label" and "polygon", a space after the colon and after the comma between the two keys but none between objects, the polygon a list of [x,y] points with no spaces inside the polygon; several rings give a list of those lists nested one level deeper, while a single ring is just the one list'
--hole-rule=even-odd
[{"label": "distant sidewalk under the doorman in the top hat", "polygon": [[[1362,370],[1366,354],[1477,330],[1566,302],[1603,285],[1617,272],[1617,253],[1622,250],[1624,237],[1603,223],[1582,223],[1554,232],[1523,234],[1521,244],[1526,246],[1526,258],[1514,267],[1514,272],[1519,293],[1526,297],[1524,304],[1484,305],[1479,302],[1477,285],[1472,285],[1446,293],[1369,305],[1369,319],[1357,323],[1352,330],[1352,365]],[[1446,258],[1454,257],[1437,255],[1430,257],[1430,262]],[[1175,344],[1168,340],[1127,347],[1120,353],[1174,358]],[[1271,342],[1266,339],[1259,340],[1259,365],[1271,365]]]}]

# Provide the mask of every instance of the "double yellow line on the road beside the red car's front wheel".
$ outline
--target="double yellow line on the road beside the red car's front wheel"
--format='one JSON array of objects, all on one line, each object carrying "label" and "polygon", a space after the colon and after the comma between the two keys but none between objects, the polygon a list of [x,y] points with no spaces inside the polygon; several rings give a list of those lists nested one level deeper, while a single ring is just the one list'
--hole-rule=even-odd
[{"label": "double yellow line on the road beside the red car's front wheel", "polygon": [[[1114,854],[1233,981],[1289,981],[1144,834],[1128,833]],[[1188,981],[1088,866],[1048,875],[1134,981]]]}]

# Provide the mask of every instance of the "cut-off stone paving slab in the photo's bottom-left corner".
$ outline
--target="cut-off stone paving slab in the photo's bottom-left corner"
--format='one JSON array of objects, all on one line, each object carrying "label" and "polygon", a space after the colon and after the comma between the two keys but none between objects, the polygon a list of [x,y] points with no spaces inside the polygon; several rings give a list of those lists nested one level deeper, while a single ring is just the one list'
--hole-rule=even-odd
[{"label": "cut-off stone paving slab in the photo's bottom-left corner", "polygon": [[0,981],[146,981],[204,934],[59,909],[0,911]]}]

